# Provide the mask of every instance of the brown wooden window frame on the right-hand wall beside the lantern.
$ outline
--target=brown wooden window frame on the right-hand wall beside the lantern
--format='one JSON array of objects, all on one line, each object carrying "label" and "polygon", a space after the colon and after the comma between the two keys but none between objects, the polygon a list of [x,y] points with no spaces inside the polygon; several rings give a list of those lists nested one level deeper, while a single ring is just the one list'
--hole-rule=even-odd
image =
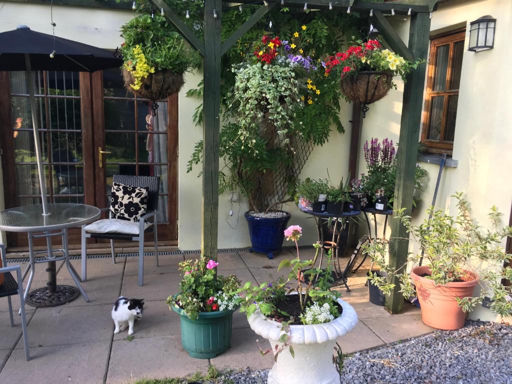
[{"label": "brown wooden window frame on the right-hand wall beside the lantern", "polygon": [[[443,139],[446,130],[446,113],[448,107],[449,96],[459,95],[459,90],[449,90],[448,84],[452,80],[452,65],[454,59],[454,45],[456,42],[464,41],[466,36],[466,30],[459,29],[456,31],[450,31],[442,35],[432,36],[430,42],[430,54],[429,54],[429,69],[428,69],[428,80],[426,84],[425,92],[425,105],[423,111],[423,128],[421,132],[421,147],[425,152],[439,153],[451,155],[453,151],[453,141],[446,140],[430,140],[428,139],[430,122],[432,117],[432,99],[435,96],[445,96],[443,103],[443,116],[441,122],[441,133],[440,138]],[[446,86],[444,91],[433,91],[434,87],[434,75],[436,70],[437,60],[437,48],[450,44],[450,50],[448,54],[448,65],[446,69]],[[460,88],[460,86],[459,86]]]}]

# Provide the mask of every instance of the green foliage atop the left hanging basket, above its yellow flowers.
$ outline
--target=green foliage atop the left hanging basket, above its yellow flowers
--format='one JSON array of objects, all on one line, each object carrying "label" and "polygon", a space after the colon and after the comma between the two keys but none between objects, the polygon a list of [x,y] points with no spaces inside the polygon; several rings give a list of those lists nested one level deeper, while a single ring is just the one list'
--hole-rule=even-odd
[{"label": "green foliage atop the left hanging basket, above its yellow flowers", "polygon": [[123,61],[134,65],[137,57],[133,49],[138,45],[150,67],[156,71],[170,70],[184,73],[200,65],[199,54],[186,44],[183,37],[175,32],[160,13],[142,14],[121,27],[124,44],[120,51]]}]

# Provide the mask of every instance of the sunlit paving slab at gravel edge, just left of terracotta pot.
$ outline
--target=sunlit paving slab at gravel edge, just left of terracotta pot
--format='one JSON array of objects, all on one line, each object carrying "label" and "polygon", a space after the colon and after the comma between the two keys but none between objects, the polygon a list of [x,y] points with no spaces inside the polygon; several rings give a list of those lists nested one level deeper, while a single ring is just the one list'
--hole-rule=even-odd
[{"label": "sunlit paving slab at gravel edge, just left of terracotta pot", "polygon": [[434,328],[423,324],[420,314],[388,314],[386,317],[365,319],[364,323],[385,343],[394,343],[434,331]]}]

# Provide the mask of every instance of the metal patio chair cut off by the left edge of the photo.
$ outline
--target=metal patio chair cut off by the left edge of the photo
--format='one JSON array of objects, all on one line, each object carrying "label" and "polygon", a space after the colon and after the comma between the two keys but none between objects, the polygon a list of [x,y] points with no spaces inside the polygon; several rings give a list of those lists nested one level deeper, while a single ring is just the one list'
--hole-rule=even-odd
[{"label": "metal patio chair cut off by the left edge of the photo", "polygon": [[[7,266],[5,245],[0,244],[0,256],[2,257],[2,265],[0,273],[4,273],[4,283],[0,285],[0,297],[6,297],[9,301],[9,316],[11,317],[11,327],[14,327],[14,316],[12,314],[12,301],[11,296],[19,295],[20,314],[22,315],[22,330],[23,330],[23,344],[25,346],[25,357],[27,361],[30,360],[29,353],[29,338],[27,334],[27,316],[25,315],[25,301],[23,299],[23,280],[22,280],[22,267],[19,265]],[[12,273],[16,271],[16,280],[14,280]]]}]

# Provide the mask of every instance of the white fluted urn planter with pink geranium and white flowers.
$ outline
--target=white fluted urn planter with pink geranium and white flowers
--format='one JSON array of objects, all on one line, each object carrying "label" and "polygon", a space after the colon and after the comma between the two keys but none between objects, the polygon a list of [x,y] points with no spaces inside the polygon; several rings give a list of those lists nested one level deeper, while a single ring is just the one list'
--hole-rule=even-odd
[{"label": "white fluted urn planter with pink geranium and white flowers", "polygon": [[[288,278],[261,286],[246,283],[241,290],[245,292],[241,311],[246,312],[252,330],[270,342],[270,348],[262,350],[272,353],[275,361],[268,382],[338,384],[334,346],[338,337],[355,327],[357,314],[337,292],[329,290],[330,266],[322,271],[314,268],[315,260],[299,259],[297,240],[301,234],[298,225],[285,231],[297,249],[295,259],[279,265],[290,268]],[[320,245],[315,247],[316,259]],[[303,284],[306,273],[309,283]],[[297,282],[294,287],[289,286],[292,281]]]}]

